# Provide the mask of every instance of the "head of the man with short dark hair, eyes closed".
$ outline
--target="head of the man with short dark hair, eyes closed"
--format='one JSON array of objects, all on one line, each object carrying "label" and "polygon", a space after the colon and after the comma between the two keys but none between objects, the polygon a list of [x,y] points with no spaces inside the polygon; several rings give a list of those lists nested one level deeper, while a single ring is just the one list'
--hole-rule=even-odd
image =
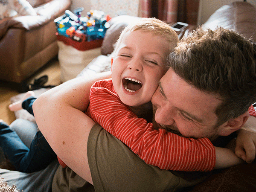
[{"label": "head of the man with short dark hair, eyes closed", "polygon": [[151,100],[155,121],[185,137],[211,140],[239,129],[256,101],[255,48],[222,28],[198,29],[180,42]]}]

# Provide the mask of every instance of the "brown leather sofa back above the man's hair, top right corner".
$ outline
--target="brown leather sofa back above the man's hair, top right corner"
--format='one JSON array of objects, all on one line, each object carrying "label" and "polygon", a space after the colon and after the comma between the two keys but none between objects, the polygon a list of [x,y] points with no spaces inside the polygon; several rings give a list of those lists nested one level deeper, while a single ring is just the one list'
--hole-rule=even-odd
[{"label": "brown leather sofa back above the man's hair, top right corner", "polygon": [[256,42],[256,8],[247,2],[233,2],[215,11],[203,26],[212,30],[217,26],[234,29]]}]

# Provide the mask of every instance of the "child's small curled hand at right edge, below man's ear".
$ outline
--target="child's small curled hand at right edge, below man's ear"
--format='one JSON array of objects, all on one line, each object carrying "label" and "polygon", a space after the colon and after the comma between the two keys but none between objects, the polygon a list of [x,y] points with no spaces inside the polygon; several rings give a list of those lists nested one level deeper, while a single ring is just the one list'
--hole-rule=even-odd
[{"label": "child's small curled hand at right edge, below man's ear", "polygon": [[235,154],[247,163],[252,163],[256,154],[256,118],[249,116],[247,122],[237,131]]}]

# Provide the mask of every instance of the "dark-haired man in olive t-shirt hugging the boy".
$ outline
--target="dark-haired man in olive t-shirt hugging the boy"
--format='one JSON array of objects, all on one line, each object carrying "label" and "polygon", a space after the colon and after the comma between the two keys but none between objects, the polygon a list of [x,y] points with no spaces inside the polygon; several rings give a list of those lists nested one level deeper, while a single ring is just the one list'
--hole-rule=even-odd
[{"label": "dark-haired man in olive t-shirt hugging the boy", "polygon": [[[170,56],[171,68],[160,80],[152,98],[156,109],[155,125],[185,137],[208,137],[215,145],[224,146],[223,138],[224,141],[228,138],[219,136],[227,136],[239,129],[248,118],[249,106],[255,102],[256,47],[224,29],[215,32],[199,29],[191,36],[195,38],[181,42]],[[235,62],[235,59],[239,60]],[[180,60],[183,60],[183,65],[180,65]],[[227,61],[232,65],[223,67]],[[216,67],[218,64],[220,67]],[[238,66],[233,66],[236,64]],[[203,67],[198,68],[200,65]],[[245,73],[241,75],[241,71]],[[105,74],[98,76],[102,79]],[[191,77],[198,81],[191,80]],[[209,83],[209,78],[215,87]],[[96,191],[184,191],[211,174],[171,172],[147,165],[122,142],[95,125],[82,112],[87,108],[88,90],[94,81],[68,81],[39,97],[33,105],[41,132],[56,154],[74,171],[59,167],[52,191],[79,191],[80,186],[86,187],[88,183],[80,177],[78,179],[78,175],[92,183]],[[228,84],[230,90],[227,91],[223,84]],[[230,94],[233,92],[234,95]],[[237,96],[238,92],[240,95]],[[241,96],[239,103],[243,102],[242,107],[239,103],[234,107],[236,99]],[[227,111],[232,111],[227,113],[231,116],[223,115]],[[251,120],[255,121],[255,118]],[[255,185],[253,187],[256,189]]]}]

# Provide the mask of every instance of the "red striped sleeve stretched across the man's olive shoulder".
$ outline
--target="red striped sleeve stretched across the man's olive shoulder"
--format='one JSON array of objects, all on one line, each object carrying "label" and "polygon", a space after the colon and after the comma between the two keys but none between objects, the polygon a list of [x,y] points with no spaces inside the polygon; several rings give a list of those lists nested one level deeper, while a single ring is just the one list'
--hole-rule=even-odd
[{"label": "red striped sleeve stretched across the man's olive shoulder", "polygon": [[106,88],[92,87],[87,114],[147,164],[179,171],[209,171],[215,167],[215,148],[208,138],[185,138],[155,130],[152,123],[138,118]]}]

